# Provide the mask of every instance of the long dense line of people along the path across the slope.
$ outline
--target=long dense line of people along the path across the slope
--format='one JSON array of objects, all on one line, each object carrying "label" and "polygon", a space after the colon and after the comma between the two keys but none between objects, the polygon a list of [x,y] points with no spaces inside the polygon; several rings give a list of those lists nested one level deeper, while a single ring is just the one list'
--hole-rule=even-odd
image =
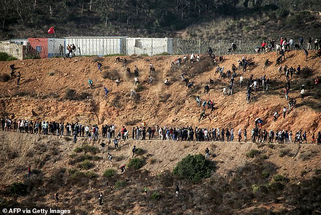
[{"label": "long dense line of people along the path across the slope", "polygon": [[[285,107],[284,107],[285,108]],[[277,114],[277,112],[276,112]],[[278,115],[273,115],[277,118]],[[262,129],[262,120],[257,118],[255,120],[255,126],[250,130],[250,136],[252,143],[263,142],[263,143],[275,143],[289,144],[289,143],[307,143],[306,132],[299,130],[293,136],[292,131],[287,130],[273,130],[267,131]],[[88,138],[89,142],[92,139],[102,139],[112,140],[115,149],[118,148],[118,141],[129,140],[129,136],[132,136],[133,140],[155,140],[159,139],[162,141],[196,141],[196,142],[230,142],[234,141],[234,130],[233,127],[229,128],[206,128],[206,127],[192,127],[192,126],[146,126],[143,122],[140,126],[133,126],[130,131],[127,130],[126,126],[122,129],[116,131],[114,124],[102,125],[99,129],[98,125],[83,125],[76,123],[64,123],[64,122],[51,122],[51,121],[34,121],[31,120],[14,120],[9,118],[1,119],[1,126],[3,131],[11,131],[18,133],[29,133],[35,135],[51,135],[51,136],[66,136],[74,137],[74,142],[77,141],[77,137]],[[238,142],[247,142],[249,139],[247,129],[239,129],[237,132]],[[243,136],[243,137],[242,137]],[[294,139],[292,139],[294,137]],[[293,141],[292,141],[293,140]],[[321,134],[317,133],[312,135],[312,144],[321,145]],[[102,146],[103,147],[103,146]]]}]

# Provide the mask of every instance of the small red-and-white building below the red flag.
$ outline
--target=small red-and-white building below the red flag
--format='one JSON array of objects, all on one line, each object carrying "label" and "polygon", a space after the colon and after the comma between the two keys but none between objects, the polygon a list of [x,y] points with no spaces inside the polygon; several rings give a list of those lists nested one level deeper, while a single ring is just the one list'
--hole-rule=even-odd
[{"label": "small red-and-white building below the red flag", "polygon": [[59,55],[59,46],[64,46],[65,40],[59,38],[28,38],[29,53],[39,55],[41,58],[50,58]]}]

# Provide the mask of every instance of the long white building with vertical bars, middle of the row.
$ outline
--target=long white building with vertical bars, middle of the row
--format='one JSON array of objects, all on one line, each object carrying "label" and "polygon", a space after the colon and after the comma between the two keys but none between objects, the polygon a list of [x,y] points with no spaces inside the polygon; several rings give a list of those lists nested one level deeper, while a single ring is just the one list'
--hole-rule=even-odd
[{"label": "long white building with vertical bars, middle of the row", "polygon": [[67,36],[65,51],[68,45],[76,47],[76,56],[105,56],[125,54],[125,36]]}]

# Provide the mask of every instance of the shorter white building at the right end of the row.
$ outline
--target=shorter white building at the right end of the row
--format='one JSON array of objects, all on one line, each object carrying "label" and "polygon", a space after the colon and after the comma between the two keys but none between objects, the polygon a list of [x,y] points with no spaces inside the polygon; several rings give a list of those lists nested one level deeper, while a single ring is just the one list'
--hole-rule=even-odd
[{"label": "shorter white building at the right end of the row", "polygon": [[173,38],[126,38],[126,55],[173,54]]}]

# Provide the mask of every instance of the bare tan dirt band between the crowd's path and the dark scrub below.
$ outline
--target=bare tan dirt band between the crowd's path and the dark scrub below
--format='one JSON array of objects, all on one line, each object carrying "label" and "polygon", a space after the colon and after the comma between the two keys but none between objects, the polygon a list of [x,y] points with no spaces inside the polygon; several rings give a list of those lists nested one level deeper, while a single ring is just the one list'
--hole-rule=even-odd
[{"label": "bare tan dirt band between the crowd's path and the dark scrub below", "polygon": [[[0,132],[1,153],[0,160],[6,171],[1,172],[2,186],[20,181],[25,177],[26,167],[31,164],[33,168],[41,168],[43,173],[50,175],[53,169],[74,168],[74,163],[69,163],[70,155],[76,147],[88,143],[87,139],[78,138],[74,144],[71,138],[66,139],[56,136],[29,135],[20,133]],[[96,141],[93,146],[100,147]],[[291,179],[298,180],[310,176],[309,172],[319,167],[321,149],[313,145],[267,145],[252,143],[220,143],[220,142],[166,142],[166,141],[127,141],[120,144],[121,148],[114,150],[113,144],[108,145],[103,154],[98,153],[103,160],[94,161],[93,170],[100,175],[107,168],[118,167],[129,162],[132,158],[132,148],[142,148],[145,153],[141,156],[146,160],[143,169],[151,175],[160,172],[172,171],[177,162],[187,154],[204,154],[205,149],[210,149],[211,160],[215,161],[216,173],[226,176],[229,170],[243,166],[251,158],[246,153],[252,149],[259,150],[266,155],[266,161],[274,163],[278,172]],[[114,162],[108,164],[107,152],[114,157]],[[136,155],[137,157],[137,155]],[[8,162],[9,161],[9,162]],[[305,172],[302,175],[302,172]],[[313,174],[313,172],[312,172]]]}]

